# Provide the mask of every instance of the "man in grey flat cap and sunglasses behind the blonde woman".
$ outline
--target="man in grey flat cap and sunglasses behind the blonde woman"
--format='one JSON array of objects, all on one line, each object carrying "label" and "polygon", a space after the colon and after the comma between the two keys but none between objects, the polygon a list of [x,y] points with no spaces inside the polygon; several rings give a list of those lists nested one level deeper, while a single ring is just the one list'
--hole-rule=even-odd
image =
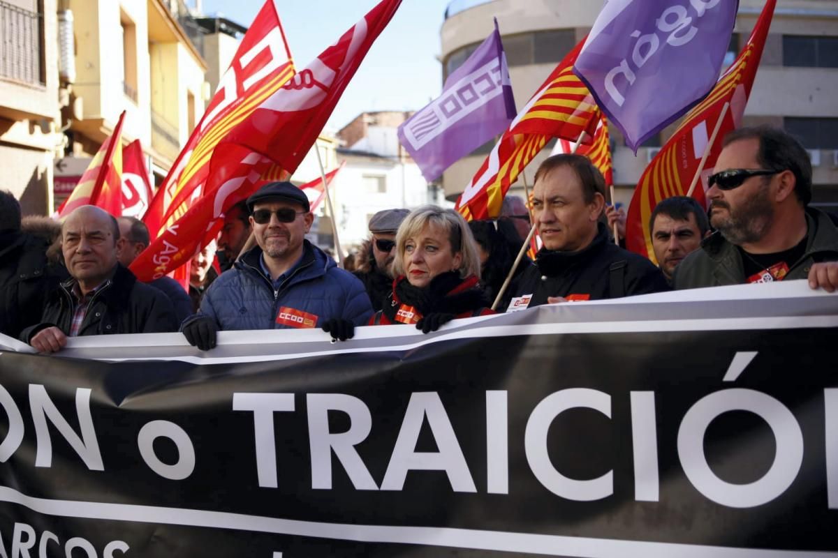
[{"label": "man in grey flat cap and sunglasses behind the blonde woman", "polygon": [[370,219],[370,238],[361,245],[360,263],[353,273],[364,284],[376,312],[393,291],[391,264],[396,257],[396,231],[408,213],[406,209],[375,213]]}]

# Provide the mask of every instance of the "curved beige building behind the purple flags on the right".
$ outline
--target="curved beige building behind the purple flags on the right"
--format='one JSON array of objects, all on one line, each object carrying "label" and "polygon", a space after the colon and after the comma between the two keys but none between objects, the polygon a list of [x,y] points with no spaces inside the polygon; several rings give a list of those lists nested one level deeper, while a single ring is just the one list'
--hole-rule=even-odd
[{"label": "curved beige building behind the purple flags on the right", "polygon": [[[747,40],[763,5],[762,0],[741,0],[727,64]],[[442,25],[443,75],[463,64],[492,30],[492,18],[496,17],[510,65],[515,104],[520,108],[590,31],[600,8],[602,3],[589,0],[456,0],[449,5]],[[810,151],[814,167],[813,202],[838,209],[836,90],[838,1],[779,0],[743,125],[777,125],[798,136]],[[624,146],[616,126],[610,127],[618,202],[628,204],[645,166],[675,128],[666,128],[634,156]],[[442,184],[448,199],[456,199],[463,192],[491,147],[487,144],[478,148],[445,172]],[[551,147],[548,144],[527,167],[530,186],[535,169]],[[521,185],[519,179],[513,193],[520,195]]]}]

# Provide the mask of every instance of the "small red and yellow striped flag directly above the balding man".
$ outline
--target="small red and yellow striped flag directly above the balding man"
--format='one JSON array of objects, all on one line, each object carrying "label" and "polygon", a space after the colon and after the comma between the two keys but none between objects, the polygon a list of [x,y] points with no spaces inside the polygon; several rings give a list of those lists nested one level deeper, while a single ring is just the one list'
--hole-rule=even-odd
[{"label": "small red and yellow striped flag directly above the balding man", "polygon": [[95,205],[115,217],[122,215],[122,120],[125,111],[113,133],[102,143],[96,156],[79,183],[75,185],[70,197],[59,207],[58,217],[65,218],[76,207]]}]

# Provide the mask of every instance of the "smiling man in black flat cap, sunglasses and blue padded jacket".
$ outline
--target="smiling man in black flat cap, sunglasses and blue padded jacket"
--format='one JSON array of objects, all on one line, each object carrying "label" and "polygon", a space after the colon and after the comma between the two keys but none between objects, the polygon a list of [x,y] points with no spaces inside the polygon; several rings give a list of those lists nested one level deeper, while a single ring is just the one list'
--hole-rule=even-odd
[{"label": "smiling man in black flat cap, sunglasses and blue padded jacket", "polygon": [[200,310],[181,325],[189,343],[215,347],[218,330],[319,327],[354,335],[372,315],[364,285],[304,237],[314,216],[291,182],[271,182],[247,200],[254,248],[209,286]]}]

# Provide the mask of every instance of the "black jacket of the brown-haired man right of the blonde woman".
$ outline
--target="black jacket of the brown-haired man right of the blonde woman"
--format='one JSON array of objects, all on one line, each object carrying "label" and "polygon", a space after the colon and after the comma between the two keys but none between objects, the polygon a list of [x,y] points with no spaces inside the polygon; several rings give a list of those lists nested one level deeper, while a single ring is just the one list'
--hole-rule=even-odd
[{"label": "black jacket of the brown-haired man right of the blonde woman", "polygon": [[535,254],[535,264],[521,274],[514,287],[514,297],[532,295],[528,308],[547,304],[549,296],[601,300],[670,290],[660,269],[615,245],[603,223],[599,223],[593,242],[578,252],[541,248]]}]

